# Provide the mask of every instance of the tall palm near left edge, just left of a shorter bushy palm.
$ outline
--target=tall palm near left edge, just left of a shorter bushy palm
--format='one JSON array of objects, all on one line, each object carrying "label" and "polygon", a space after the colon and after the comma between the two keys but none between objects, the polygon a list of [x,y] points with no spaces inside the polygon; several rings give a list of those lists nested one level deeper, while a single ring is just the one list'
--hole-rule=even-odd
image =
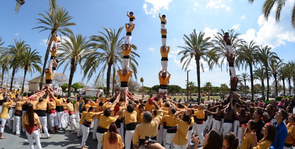
[{"label": "tall palm near left edge, just left of a shorter bushy palm", "polygon": [[7,48],[7,53],[5,53],[4,55],[5,56],[8,56],[9,57],[9,65],[10,65],[10,68],[12,68],[12,74],[11,74],[11,82],[10,82],[10,90],[12,90],[12,84],[13,84],[13,79],[14,79],[14,74],[15,72],[18,72],[19,71],[19,63],[16,63],[16,62],[20,62],[22,57],[20,57],[20,54],[29,49],[30,46],[25,44],[26,41],[20,39],[20,40],[17,40],[17,39],[13,39],[14,42],[12,45],[9,45]]}]

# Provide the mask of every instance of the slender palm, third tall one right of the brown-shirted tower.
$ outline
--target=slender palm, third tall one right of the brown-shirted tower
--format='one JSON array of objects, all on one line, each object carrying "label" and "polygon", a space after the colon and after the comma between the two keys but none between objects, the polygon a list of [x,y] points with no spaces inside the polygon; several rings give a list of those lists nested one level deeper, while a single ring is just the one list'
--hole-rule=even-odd
[{"label": "slender palm, third tall one right of the brown-shirted tower", "polygon": [[283,60],[270,60],[268,61],[269,74],[273,76],[275,80],[276,96],[278,96],[278,76],[280,71],[278,71],[284,65]]}]

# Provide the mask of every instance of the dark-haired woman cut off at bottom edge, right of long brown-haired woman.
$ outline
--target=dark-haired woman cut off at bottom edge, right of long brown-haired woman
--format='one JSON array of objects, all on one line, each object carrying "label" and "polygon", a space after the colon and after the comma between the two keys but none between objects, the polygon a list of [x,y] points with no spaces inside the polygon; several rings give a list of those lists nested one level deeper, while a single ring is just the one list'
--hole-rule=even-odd
[{"label": "dark-haired woman cut off at bottom edge, right of long brown-haired woman", "polygon": [[239,145],[239,138],[233,132],[227,132],[223,136],[224,149],[237,149]]}]

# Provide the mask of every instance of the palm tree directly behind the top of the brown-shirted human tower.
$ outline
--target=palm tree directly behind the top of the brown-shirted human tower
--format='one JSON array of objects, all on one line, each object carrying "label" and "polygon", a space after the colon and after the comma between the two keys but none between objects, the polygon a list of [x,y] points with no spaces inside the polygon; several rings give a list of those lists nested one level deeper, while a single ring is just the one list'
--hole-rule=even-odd
[{"label": "palm tree directly behind the top of the brown-shirted human tower", "polygon": [[[222,58],[221,60],[221,71],[222,71],[222,66],[223,66],[223,62],[224,60],[227,61],[227,55],[228,55],[228,50],[226,49],[226,45],[223,42],[223,35],[225,34],[224,30],[220,30],[221,32],[217,32],[217,34],[213,34],[214,35],[214,39],[212,40],[212,42],[214,43],[214,48],[213,50],[215,51],[215,53],[218,55],[219,58]],[[244,40],[240,39],[238,36],[241,35],[238,32],[235,32],[234,30],[229,30],[227,31],[228,35],[230,36],[230,40],[232,43],[232,52],[235,53],[235,51],[239,48],[238,46],[245,42]],[[214,63],[211,63],[214,64]],[[228,63],[226,63],[226,68],[228,66]],[[227,69],[228,71],[228,69]]]}]

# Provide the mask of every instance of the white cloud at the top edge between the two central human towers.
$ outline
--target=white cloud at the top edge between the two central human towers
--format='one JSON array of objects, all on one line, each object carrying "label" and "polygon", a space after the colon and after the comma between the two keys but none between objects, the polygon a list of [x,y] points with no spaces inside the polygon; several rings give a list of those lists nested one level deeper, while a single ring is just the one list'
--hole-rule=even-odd
[{"label": "white cloud at the top edge between the two central human towers", "polygon": [[145,14],[150,14],[153,15],[153,17],[156,17],[156,14],[159,13],[160,9],[163,8],[169,10],[168,5],[170,2],[172,2],[172,0],[145,0],[142,8],[145,11]]}]

